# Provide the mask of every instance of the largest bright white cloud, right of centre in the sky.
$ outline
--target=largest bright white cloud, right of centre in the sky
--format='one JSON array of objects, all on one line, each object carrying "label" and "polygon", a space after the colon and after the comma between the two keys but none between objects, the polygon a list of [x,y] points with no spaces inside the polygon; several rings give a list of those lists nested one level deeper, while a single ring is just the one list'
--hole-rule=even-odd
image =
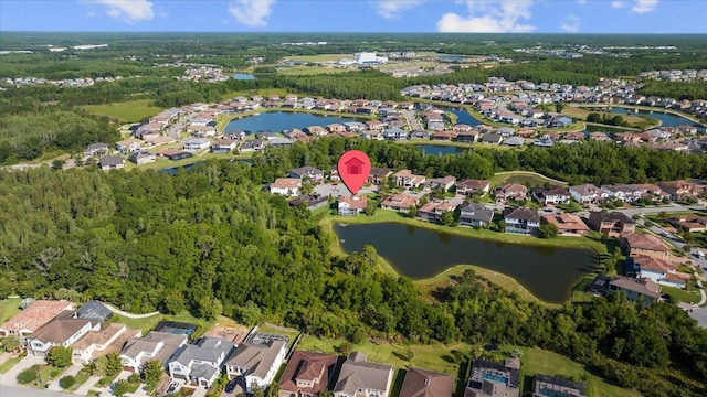
[{"label": "largest bright white cloud, right of centre in the sky", "polygon": [[532,32],[535,26],[521,24],[530,18],[532,0],[466,0],[467,17],[447,12],[437,21],[440,32],[503,33]]}]

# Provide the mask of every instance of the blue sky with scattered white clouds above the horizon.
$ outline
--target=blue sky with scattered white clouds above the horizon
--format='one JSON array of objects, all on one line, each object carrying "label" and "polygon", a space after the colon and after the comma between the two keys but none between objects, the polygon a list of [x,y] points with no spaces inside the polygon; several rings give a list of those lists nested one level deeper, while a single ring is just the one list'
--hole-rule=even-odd
[{"label": "blue sky with scattered white clouds above the horizon", "polygon": [[0,0],[0,31],[707,33],[705,0]]}]

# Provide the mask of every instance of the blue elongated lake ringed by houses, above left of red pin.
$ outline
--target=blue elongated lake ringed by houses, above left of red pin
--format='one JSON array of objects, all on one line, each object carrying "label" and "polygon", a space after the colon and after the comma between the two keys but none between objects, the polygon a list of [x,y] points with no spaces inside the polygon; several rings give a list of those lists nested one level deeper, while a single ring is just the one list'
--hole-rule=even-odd
[{"label": "blue elongated lake ringed by houses, above left of red pin", "polygon": [[334,122],[357,121],[355,118],[341,118],[331,116],[319,116],[303,112],[270,111],[257,116],[249,116],[241,119],[233,119],[225,126],[225,131],[274,131],[281,132],[285,129],[309,126],[326,126]]}]

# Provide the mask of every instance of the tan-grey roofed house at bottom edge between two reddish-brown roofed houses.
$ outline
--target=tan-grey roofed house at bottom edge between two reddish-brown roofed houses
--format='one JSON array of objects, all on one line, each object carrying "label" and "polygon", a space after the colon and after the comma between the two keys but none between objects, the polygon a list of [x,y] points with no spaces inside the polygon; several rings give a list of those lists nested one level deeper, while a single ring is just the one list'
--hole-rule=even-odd
[{"label": "tan-grey roofed house at bottom edge between two reddish-brown roofed houses", "polygon": [[341,365],[334,397],[388,397],[392,379],[391,365],[371,363],[366,354],[351,352]]}]

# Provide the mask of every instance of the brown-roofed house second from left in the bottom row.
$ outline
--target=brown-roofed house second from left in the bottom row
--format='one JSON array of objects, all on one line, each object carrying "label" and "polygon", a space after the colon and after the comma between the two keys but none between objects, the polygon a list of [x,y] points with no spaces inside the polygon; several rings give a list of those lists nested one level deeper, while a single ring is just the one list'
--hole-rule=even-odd
[{"label": "brown-roofed house second from left in the bottom row", "polygon": [[54,346],[70,347],[88,331],[98,331],[101,323],[88,320],[74,319],[73,312],[60,313],[56,318],[42,325],[28,336],[28,350],[35,356],[46,356]]}]

